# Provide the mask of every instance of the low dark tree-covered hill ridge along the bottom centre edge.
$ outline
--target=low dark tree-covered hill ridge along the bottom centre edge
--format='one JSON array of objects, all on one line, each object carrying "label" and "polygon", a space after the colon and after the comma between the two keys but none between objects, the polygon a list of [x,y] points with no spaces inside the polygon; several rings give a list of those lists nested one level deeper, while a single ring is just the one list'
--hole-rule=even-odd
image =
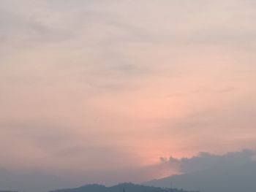
[{"label": "low dark tree-covered hill ridge along the bottom centre edge", "polygon": [[[189,192],[177,188],[157,188],[153,186],[135,185],[133,183],[121,183],[112,187],[105,185],[85,185],[80,188],[61,189],[50,192]],[[198,192],[198,191],[190,191]]]}]

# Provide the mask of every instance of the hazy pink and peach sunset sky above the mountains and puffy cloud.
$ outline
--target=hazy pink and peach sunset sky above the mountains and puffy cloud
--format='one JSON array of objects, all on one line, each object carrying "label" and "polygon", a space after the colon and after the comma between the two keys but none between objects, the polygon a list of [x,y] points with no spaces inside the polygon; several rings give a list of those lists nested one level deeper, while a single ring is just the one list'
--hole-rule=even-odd
[{"label": "hazy pink and peach sunset sky above the mountains and puffy cloud", "polygon": [[110,185],[255,150],[255,8],[0,0],[0,167]]}]

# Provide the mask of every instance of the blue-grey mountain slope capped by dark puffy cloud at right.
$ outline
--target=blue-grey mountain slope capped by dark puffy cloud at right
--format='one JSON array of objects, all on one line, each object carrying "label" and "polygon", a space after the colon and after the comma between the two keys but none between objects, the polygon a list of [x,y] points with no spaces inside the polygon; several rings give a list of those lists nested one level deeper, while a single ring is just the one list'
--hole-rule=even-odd
[{"label": "blue-grey mountain slope capped by dark puffy cloud at right", "polygon": [[[200,153],[192,158],[176,159],[184,174],[176,174],[146,185],[170,187],[170,181],[176,188],[197,191],[249,191],[256,189],[255,150],[213,155]],[[172,161],[170,161],[172,162]],[[166,163],[171,166],[173,163]]]}]

